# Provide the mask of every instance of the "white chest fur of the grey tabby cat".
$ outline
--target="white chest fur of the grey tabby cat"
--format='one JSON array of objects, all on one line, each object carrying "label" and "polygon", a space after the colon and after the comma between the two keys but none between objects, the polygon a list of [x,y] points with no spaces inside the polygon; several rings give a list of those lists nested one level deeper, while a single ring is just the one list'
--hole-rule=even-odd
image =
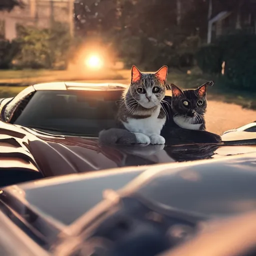
[{"label": "white chest fur of the grey tabby cat", "polygon": [[122,122],[124,127],[133,132],[140,132],[147,136],[160,134],[166,118],[157,118],[160,112],[160,106],[151,114],[150,117],[143,119],[128,118],[127,122]]}]

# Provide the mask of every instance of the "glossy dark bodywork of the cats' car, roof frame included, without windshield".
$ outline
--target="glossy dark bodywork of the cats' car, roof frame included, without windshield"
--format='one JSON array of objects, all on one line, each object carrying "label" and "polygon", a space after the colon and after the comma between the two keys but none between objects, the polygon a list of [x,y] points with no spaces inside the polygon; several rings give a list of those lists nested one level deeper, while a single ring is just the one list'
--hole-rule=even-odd
[{"label": "glossy dark bodywork of the cats' car, roof frame included, without windshield", "polygon": [[[99,90],[104,93],[111,93],[113,97],[117,97],[123,91],[125,85],[106,86],[102,84],[68,84],[63,82],[37,84],[27,87],[14,98],[2,99],[0,101],[0,116],[2,120],[0,122],[0,161],[1,159],[3,161],[4,157],[10,160],[8,161],[9,164],[1,169],[2,180],[5,181],[0,182],[0,186],[14,182],[23,182],[37,177],[98,171],[123,166],[211,159],[225,157],[230,154],[256,151],[256,146],[254,145],[246,148],[235,147],[234,149],[225,147],[223,143],[195,144],[187,140],[187,138],[183,144],[182,141],[172,143],[171,139],[168,140],[166,138],[166,145],[148,145],[146,147],[139,145],[104,146],[98,144],[97,138],[56,135],[11,124],[36,90],[68,90],[71,87],[86,90],[90,93],[93,93],[94,90]],[[252,126],[249,131],[251,129]],[[245,133],[253,133],[249,131],[246,130]],[[191,137],[190,132],[187,130],[188,137]],[[173,137],[176,138],[176,135]],[[198,141],[202,142],[200,140],[201,136],[198,135],[197,137]],[[233,132],[233,140],[235,139],[237,139],[237,136]],[[230,140],[228,143],[230,143]],[[30,165],[21,168],[18,161],[20,161],[20,166],[22,161]],[[4,162],[7,162],[6,159]],[[16,178],[13,178],[12,181],[11,172],[7,172],[10,169],[13,171],[25,169],[27,175],[22,175],[22,178],[19,175],[15,175]],[[30,174],[29,172],[33,173]]]}]

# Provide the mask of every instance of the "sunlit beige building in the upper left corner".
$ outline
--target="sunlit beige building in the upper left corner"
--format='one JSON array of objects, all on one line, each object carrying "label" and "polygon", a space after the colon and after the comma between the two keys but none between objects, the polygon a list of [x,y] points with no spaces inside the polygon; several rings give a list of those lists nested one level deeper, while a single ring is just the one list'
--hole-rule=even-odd
[{"label": "sunlit beige building in the upper left corner", "polygon": [[[24,8],[0,11],[0,37],[12,40],[17,24],[50,27],[51,21],[69,23],[72,30],[73,0],[23,0]],[[72,31],[71,31],[72,32]]]}]

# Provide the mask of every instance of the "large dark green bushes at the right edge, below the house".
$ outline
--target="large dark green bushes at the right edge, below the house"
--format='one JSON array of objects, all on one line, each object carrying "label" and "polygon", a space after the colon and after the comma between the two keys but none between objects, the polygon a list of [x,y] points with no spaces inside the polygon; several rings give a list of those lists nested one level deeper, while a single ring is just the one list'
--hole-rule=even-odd
[{"label": "large dark green bushes at the right edge, below the house", "polygon": [[201,47],[197,63],[204,73],[220,73],[225,61],[226,85],[256,91],[256,35],[237,33],[220,37],[213,45]]}]

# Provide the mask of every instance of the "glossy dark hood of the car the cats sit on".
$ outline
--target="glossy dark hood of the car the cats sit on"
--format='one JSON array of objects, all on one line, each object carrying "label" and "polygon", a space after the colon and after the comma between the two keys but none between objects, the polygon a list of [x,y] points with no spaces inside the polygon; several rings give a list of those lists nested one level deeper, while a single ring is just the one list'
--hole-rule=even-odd
[{"label": "glossy dark hood of the car the cats sit on", "polygon": [[99,145],[97,138],[53,135],[6,123],[1,123],[0,131],[17,141],[20,147],[27,148],[26,153],[44,176],[256,152],[256,145],[105,146]]}]

